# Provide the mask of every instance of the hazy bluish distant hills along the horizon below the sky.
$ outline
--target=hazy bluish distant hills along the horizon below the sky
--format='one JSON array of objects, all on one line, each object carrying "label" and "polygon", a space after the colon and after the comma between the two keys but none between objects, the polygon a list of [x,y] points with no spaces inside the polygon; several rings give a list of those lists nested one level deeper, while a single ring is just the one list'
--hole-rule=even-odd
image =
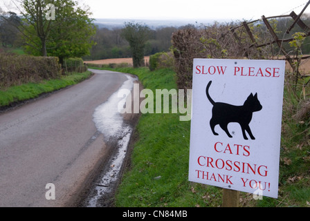
[{"label": "hazy bluish distant hills along the horizon below the sky", "polygon": [[122,28],[125,22],[132,21],[136,23],[145,23],[149,28],[165,28],[165,27],[180,27],[186,26],[189,23],[194,26],[201,23],[213,23],[212,20],[194,21],[194,20],[149,20],[149,19],[95,19],[94,23],[98,28]]}]

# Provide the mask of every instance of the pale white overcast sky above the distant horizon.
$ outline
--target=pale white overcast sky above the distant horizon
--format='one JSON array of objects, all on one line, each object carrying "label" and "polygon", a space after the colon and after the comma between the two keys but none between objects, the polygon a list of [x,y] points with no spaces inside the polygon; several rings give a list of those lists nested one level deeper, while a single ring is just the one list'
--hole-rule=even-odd
[{"label": "pale white overcast sky above the distant horizon", "polygon": [[[0,0],[10,3],[11,0]],[[78,0],[90,6],[96,19],[259,19],[299,13],[307,0]],[[6,10],[6,6],[1,6]],[[297,7],[297,8],[296,8]],[[306,12],[310,13],[310,6]]]}]

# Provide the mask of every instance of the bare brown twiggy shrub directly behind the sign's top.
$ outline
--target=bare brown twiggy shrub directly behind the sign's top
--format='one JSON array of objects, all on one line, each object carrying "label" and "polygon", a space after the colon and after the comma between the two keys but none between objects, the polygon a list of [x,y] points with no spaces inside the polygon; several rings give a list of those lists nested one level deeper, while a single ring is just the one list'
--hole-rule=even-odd
[{"label": "bare brown twiggy shrub directly behind the sign's top", "polygon": [[[266,59],[273,48],[266,44],[272,40],[257,23],[217,23],[199,28],[187,27],[172,35],[176,83],[179,88],[192,88],[192,62],[194,58],[224,59],[247,57]],[[250,34],[249,34],[250,32]],[[267,34],[266,34],[267,33]],[[257,48],[257,45],[266,45]]]}]

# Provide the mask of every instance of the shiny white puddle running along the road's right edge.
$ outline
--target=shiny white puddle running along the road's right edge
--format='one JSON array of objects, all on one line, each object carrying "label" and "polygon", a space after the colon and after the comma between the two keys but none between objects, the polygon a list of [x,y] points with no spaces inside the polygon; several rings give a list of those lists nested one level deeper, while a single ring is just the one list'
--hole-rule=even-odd
[{"label": "shiny white puddle running along the road's right edge", "polygon": [[[128,89],[130,91],[134,86],[134,81],[137,78],[127,76],[125,81],[118,91],[122,89]],[[112,191],[113,183],[118,180],[120,169],[122,168],[122,162],[127,153],[127,146],[132,133],[132,128],[129,125],[125,125],[122,115],[118,112],[118,106],[125,104],[126,96],[118,97],[118,91],[113,93],[109,97],[107,102],[104,102],[93,113],[93,122],[95,126],[104,135],[106,142],[110,140],[117,141],[118,151],[116,155],[109,161],[108,168],[104,170],[104,174],[100,182],[95,186],[95,195],[88,200],[88,207],[95,207],[98,200],[102,198],[104,194]]]}]

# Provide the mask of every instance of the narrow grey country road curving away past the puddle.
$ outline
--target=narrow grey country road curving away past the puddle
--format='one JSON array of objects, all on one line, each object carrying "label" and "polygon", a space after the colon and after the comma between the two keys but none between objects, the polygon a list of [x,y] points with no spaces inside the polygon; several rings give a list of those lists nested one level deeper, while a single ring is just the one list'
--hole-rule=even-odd
[{"label": "narrow grey country road curving away past the puddle", "polygon": [[[0,206],[68,206],[109,153],[93,122],[95,108],[127,80],[95,75],[0,114]],[[55,200],[46,200],[46,184]]]}]

